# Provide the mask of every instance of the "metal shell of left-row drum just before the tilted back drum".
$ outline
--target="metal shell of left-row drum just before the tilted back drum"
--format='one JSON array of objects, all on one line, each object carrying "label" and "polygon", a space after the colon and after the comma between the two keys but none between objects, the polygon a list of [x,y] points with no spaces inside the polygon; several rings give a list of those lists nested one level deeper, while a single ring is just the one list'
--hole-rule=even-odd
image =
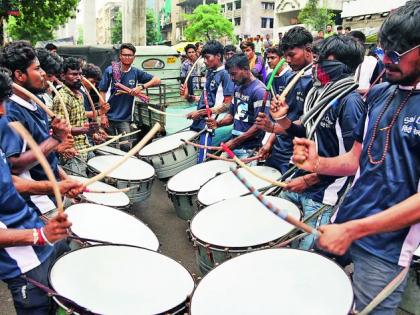
[{"label": "metal shell of left-row drum just before the tilted back drum", "polygon": [[[90,173],[89,175],[96,175],[99,173],[95,168],[89,165],[87,170],[88,174]],[[130,202],[137,203],[142,202],[150,197],[150,195],[152,194],[152,186],[154,179],[154,176],[144,180],[123,180],[113,177],[105,177],[103,179],[103,182],[108,185],[114,186],[118,189],[124,189],[131,186],[138,186],[137,188],[130,189],[126,192],[128,198],[130,198]]]}]

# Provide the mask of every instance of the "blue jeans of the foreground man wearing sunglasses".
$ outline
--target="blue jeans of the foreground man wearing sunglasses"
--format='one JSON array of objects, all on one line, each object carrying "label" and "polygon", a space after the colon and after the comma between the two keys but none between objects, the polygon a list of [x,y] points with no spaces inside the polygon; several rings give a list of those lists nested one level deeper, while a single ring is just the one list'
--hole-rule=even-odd
[{"label": "blue jeans of the foreground man wearing sunglasses", "polygon": [[[357,245],[350,248],[350,256],[354,264],[353,289],[356,309],[360,312],[400,273],[403,267],[376,257]],[[407,279],[408,277],[369,314],[395,315]]]}]

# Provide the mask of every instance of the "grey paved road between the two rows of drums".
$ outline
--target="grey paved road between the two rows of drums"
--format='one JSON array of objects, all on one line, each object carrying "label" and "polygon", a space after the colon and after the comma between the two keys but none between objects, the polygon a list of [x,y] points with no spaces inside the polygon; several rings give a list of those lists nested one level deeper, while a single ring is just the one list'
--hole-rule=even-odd
[{"label": "grey paved road between the two rows of drums", "polygon": [[[179,261],[191,273],[198,274],[195,254],[188,241],[185,230],[187,222],[178,219],[167,197],[164,183],[156,180],[152,197],[133,209],[134,214],[156,233],[161,246],[160,251]],[[7,287],[0,282],[0,314],[14,315],[15,311]],[[397,315],[408,313],[399,312]]]}]

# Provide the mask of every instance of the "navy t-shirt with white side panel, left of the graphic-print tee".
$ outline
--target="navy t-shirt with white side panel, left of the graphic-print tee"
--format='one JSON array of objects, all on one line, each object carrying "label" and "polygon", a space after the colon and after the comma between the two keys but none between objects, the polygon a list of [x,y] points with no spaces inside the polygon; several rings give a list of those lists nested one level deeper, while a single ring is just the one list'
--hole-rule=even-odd
[{"label": "navy t-shirt with white side panel, left of the graphic-print tee", "polygon": [[[223,103],[225,96],[232,96],[235,89],[233,81],[230,79],[229,73],[225,70],[224,66],[220,66],[216,70],[208,70],[206,76],[206,91],[207,101],[209,107],[212,108],[215,105]],[[197,104],[197,110],[206,108],[204,103],[204,91],[200,96],[200,100]],[[191,129],[200,131],[206,125],[204,119],[194,120]]]}]

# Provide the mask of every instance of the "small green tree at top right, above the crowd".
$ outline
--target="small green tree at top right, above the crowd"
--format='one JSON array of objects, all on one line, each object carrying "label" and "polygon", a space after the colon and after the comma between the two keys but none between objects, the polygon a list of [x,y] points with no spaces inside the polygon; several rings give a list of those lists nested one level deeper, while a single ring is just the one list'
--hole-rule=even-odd
[{"label": "small green tree at top right, above the crowd", "polygon": [[334,24],[335,14],[318,6],[319,0],[308,0],[299,13],[299,21],[311,30],[325,30],[327,24]]}]

